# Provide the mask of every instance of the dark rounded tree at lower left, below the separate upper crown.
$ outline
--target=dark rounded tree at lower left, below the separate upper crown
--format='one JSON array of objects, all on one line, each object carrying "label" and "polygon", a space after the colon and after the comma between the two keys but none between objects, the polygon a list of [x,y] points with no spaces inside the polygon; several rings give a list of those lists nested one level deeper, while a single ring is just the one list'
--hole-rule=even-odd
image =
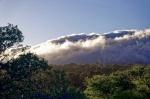
[{"label": "dark rounded tree at lower left, below the separate upper crown", "polygon": [[[47,61],[27,53],[9,61],[5,69],[1,69],[0,96],[1,98],[21,98],[31,96],[34,87],[31,76],[39,70],[48,67]],[[2,71],[3,70],[3,71]]]}]

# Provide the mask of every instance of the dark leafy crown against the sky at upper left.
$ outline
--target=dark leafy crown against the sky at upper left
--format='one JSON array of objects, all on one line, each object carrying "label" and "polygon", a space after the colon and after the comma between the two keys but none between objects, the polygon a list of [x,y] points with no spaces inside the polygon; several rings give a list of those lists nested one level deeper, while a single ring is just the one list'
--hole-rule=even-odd
[{"label": "dark leafy crown against the sky at upper left", "polygon": [[0,54],[7,48],[22,41],[23,35],[17,26],[8,24],[8,26],[0,27]]}]

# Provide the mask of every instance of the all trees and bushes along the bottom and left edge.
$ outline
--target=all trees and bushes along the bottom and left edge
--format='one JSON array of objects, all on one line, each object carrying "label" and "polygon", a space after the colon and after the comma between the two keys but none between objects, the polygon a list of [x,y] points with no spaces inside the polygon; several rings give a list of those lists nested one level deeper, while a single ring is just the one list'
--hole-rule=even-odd
[{"label": "all trees and bushes along the bottom and left edge", "polygon": [[7,60],[6,49],[22,41],[17,26],[0,27],[0,99],[150,98],[148,65],[57,66],[32,53]]}]

